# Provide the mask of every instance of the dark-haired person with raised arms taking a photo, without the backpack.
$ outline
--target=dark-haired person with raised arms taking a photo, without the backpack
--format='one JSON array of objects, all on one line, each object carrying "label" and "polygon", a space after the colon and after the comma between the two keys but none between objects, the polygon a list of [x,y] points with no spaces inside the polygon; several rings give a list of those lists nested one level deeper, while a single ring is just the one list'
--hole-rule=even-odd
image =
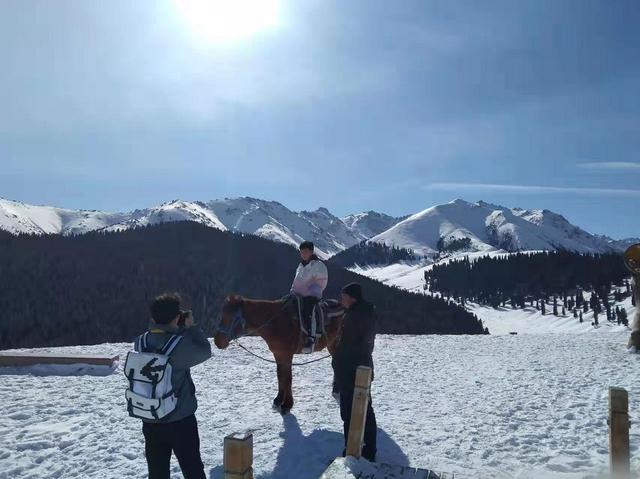
[{"label": "dark-haired person with raised arms taking a photo, without the backpack", "polygon": [[145,453],[150,479],[169,479],[173,452],[185,479],[205,479],[200,457],[200,438],[195,412],[198,407],[196,389],[189,368],[211,357],[211,345],[190,311],[180,310],[180,296],[167,293],[151,304],[149,331],[137,340],[147,352],[162,350],[175,335],[180,341],[170,357],[171,383],[177,396],[175,410],[160,420],[143,419]]}]

